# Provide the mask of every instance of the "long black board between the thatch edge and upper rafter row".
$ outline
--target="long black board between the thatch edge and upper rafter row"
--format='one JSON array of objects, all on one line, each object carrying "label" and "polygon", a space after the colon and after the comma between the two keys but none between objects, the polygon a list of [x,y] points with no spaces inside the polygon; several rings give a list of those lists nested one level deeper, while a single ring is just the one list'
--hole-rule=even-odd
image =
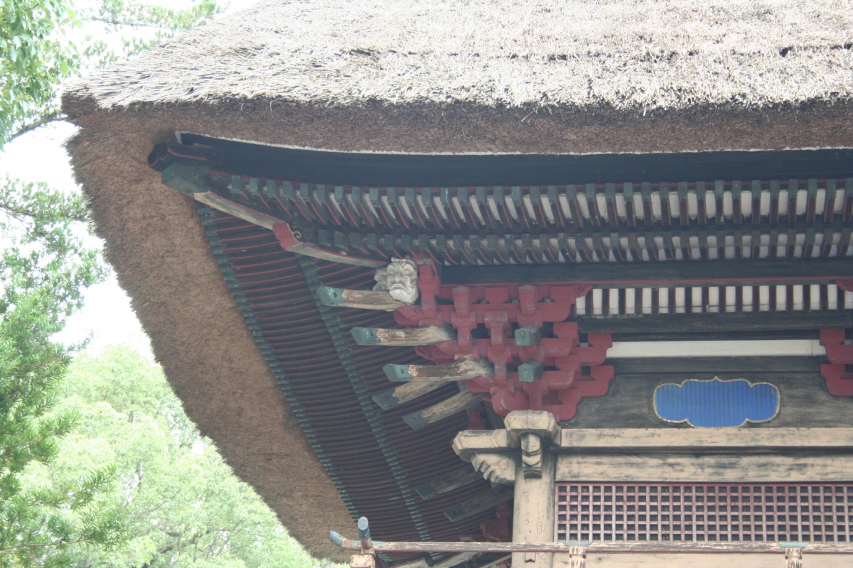
[{"label": "long black board between the thatch edge and upper rafter row", "polygon": [[216,148],[229,174],[338,186],[547,186],[685,180],[853,177],[853,149],[649,154],[391,154],[321,152],[183,134]]}]

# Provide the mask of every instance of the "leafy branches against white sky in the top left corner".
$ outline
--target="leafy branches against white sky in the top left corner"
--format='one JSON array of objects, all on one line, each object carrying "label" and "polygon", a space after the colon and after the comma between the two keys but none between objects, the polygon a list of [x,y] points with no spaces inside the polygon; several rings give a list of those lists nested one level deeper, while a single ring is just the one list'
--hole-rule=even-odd
[{"label": "leafy branches against white sky in the top left corner", "polygon": [[[56,95],[67,77],[136,55],[222,10],[216,0],[197,0],[189,9],[132,0],[98,0],[79,9],[73,0],[0,0],[0,149],[62,118]],[[98,37],[73,41],[81,29]]]}]

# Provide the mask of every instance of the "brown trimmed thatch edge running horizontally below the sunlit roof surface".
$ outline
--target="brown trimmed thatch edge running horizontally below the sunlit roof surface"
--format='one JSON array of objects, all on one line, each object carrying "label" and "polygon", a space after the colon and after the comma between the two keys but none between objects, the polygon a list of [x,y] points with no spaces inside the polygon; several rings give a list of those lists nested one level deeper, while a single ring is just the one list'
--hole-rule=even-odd
[{"label": "brown trimmed thatch edge running horizontally below the sunlit roof surface", "polygon": [[330,108],[270,100],[102,109],[96,100],[71,92],[63,97],[63,110],[74,123],[95,130],[162,128],[159,141],[175,132],[192,132],[339,152],[587,154],[853,147],[853,103],[816,101],[762,110],[705,106],[642,116],[612,108]]}]

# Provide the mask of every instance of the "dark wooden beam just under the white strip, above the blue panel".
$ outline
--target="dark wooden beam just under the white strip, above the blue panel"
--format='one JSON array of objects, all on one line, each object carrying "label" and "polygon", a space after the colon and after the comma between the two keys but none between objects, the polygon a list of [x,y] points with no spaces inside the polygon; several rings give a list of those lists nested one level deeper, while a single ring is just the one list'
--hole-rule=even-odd
[{"label": "dark wooden beam just under the white strip, above the blue panel", "polygon": [[664,373],[815,373],[821,372],[822,357],[691,357],[612,359],[616,376],[661,375]]}]

